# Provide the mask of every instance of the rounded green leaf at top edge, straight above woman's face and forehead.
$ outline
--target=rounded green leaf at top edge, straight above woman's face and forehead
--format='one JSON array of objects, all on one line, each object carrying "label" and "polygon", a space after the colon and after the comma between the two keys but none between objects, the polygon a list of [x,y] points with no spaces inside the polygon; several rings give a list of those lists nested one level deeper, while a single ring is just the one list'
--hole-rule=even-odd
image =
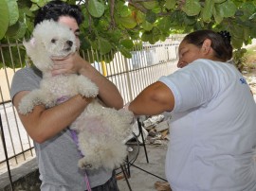
[{"label": "rounded green leaf at top edge, straight above woman's face and forehead", "polygon": [[182,10],[186,12],[188,16],[198,15],[201,10],[199,0],[187,0]]}]

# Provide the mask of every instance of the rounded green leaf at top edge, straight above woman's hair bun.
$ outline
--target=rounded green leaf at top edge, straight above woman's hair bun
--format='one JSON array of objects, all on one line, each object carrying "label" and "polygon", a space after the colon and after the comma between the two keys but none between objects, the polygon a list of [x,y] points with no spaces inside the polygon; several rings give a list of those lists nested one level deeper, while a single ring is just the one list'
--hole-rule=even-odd
[{"label": "rounded green leaf at top edge, straight above woman's hair bun", "polygon": [[215,9],[221,17],[232,17],[237,8],[232,1],[228,0],[222,4],[215,4]]}]

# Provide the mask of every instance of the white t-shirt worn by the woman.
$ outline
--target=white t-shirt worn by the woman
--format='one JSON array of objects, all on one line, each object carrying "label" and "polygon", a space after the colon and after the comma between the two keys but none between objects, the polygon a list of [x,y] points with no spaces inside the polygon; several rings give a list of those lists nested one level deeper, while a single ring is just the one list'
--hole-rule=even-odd
[{"label": "white t-shirt worn by the woman", "polygon": [[197,60],[159,81],[174,94],[166,176],[173,191],[255,191],[256,104],[229,63]]}]

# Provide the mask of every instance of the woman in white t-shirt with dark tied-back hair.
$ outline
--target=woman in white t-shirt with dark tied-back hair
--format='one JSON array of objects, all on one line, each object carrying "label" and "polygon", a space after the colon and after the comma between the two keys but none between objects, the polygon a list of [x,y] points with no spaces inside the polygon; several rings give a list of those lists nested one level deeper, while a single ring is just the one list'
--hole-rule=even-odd
[{"label": "woman in white t-shirt with dark tied-back hair", "polygon": [[136,115],[172,112],[165,170],[173,191],[255,191],[256,104],[227,62],[229,32],[192,32],[178,50],[181,69],[126,108]]}]

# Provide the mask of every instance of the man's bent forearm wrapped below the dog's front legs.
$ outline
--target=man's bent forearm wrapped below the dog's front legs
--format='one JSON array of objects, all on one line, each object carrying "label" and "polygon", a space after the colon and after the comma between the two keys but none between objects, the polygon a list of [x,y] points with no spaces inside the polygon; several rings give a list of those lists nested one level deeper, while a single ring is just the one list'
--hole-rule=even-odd
[{"label": "man's bent forearm wrapped below the dog's front legs", "polygon": [[[19,92],[13,97],[13,104],[17,111],[21,99],[28,93],[28,91]],[[44,143],[68,127],[90,101],[91,99],[80,95],[73,96],[66,102],[47,110],[44,105],[35,106],[31,113],[19,113],[19,117],[28,135],[35,142]]]}]

